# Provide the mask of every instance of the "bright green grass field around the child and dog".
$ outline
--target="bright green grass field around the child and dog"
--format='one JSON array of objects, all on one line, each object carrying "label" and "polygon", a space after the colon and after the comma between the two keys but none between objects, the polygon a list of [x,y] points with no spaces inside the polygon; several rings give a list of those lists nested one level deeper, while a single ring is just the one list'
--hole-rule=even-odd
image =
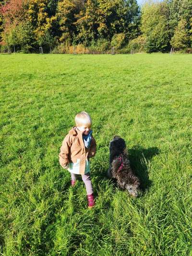
[{"label": "bright green grass field around the child and dog", "polygon": [[[0,55],[0,254],[192,256],[192,55]],[[87,111],[96,207],[58,154]],[[122,136],[138,198],[106,178]]]}]

